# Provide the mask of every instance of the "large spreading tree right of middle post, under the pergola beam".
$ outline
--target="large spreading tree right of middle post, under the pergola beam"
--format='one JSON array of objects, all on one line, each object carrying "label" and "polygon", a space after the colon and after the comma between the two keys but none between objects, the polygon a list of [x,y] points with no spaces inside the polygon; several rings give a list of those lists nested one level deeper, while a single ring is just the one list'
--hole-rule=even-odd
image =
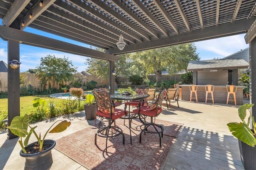
[{"label": "large spreading tree right of middle post, under the pergola beam", "polygon": [[137,67],[144,67],[146,75],[155,73],[156,82],[160,81],[162,71],[167,70],[169,74],[186,70],[189,61],[199,60],[196,47],[193,43],[175,45],[136,52],[132,60]]}]

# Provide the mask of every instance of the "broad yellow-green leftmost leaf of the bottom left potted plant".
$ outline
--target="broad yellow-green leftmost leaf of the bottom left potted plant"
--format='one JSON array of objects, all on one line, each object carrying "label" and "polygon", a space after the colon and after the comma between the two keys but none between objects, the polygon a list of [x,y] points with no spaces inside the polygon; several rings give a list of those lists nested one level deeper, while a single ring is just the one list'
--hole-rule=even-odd
[{"label": "broad yellow-green leftmost leaf of the bottom left potted plant", "polygon": [[7,128],[16,136],[25,137],[28,134],[28,122],[28,115],[24,115],[23,117],[16,116],[12,119],[11,125]]}]

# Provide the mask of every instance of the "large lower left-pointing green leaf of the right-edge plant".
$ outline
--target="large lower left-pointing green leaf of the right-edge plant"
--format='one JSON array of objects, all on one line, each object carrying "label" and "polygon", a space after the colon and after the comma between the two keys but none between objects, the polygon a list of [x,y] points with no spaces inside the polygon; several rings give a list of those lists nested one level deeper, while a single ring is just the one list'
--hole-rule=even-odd
[{"label": "large lower left-pointing green leaf of the right-edge plant", "polygon": [[252,130],[246,125],[246,123],[228,123],[228,128],[232,134],[241,140],[242,142],[254,147],[256,145],[256,138],[254,137]]}]

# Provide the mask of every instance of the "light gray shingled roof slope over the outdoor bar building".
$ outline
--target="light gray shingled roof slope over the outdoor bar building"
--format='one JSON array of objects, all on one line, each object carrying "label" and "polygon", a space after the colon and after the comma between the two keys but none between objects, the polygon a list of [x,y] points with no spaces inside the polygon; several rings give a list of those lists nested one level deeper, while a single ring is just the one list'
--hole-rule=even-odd
[{"label": "light gray shingled roof slope over the outdoor bar building", "polygon": [[244,59],[212,59],[202,61],[189,61],[187,70],[198,71],[204,69],[244,69],[249,64]]}]

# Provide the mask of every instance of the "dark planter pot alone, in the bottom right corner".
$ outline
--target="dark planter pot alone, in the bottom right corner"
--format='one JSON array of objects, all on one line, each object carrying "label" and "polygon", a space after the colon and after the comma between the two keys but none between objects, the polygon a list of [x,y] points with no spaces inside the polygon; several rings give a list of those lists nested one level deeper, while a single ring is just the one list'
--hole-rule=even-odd
[{"label": "dark planter pot alone, in the bottom right corner", "polygon": [[245,170],[256,170],[256,146],[238,140],[241,161]]}]

